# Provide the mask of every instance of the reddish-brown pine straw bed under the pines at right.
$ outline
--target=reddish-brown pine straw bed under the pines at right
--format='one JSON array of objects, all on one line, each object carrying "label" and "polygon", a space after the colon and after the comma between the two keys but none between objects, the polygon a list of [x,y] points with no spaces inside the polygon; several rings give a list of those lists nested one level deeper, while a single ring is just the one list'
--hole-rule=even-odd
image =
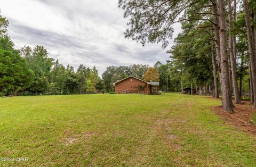
[{"label": "reddish-brown pine straw bed under the pines at right", "polygon": [[227,123],[231,124],[232,127],[242,129],[256,136],[256,125],[252,120],[253,115],[256,114],[256,109],[252,108],[252,104],[247,101],[242,101],[241,104],[234,105],[234,114],[223,112],[221,106],[215,106],[213,109],[215,113],[220,115]]}]

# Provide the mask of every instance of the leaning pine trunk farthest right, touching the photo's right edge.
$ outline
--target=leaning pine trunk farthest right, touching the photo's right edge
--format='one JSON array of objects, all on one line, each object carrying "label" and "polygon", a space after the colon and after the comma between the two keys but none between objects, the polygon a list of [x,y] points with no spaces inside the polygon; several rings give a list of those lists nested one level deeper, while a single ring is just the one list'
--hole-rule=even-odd
[{"label": "leaning pine trunk farthest right, touching the photo's right edge", "polygon": [[[251,62],[251,74],[252,74],[252,89],[253,98],[256,99],[256,53],[255,53],[255,39],[253,38],[254,31],[252,31],[251,21],[249,16],[249,5],[247,0],[243,0],[244,4],[244,18],[247,28],[247,37],[249,43],[249,53]],[[254,100],[253,107],[256,107],[256,101]]]}]

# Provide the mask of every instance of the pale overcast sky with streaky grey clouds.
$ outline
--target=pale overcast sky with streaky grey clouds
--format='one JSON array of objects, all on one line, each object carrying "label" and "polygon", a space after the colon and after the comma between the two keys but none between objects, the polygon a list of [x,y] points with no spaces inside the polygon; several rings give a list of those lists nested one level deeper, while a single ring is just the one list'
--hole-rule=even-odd
[{"label": "pale overcast sky with streaky grey clouds", "polygon": [[[161,44],[124,38],[127,28],[118,0],[8,0],[0,1],[9,22],[15,48],[43,45],[49,56],[77,69],[96,66],[101,74],[110,65],[165,63],[169,55]],[[174,36],[180,26],[174,25]]]}]

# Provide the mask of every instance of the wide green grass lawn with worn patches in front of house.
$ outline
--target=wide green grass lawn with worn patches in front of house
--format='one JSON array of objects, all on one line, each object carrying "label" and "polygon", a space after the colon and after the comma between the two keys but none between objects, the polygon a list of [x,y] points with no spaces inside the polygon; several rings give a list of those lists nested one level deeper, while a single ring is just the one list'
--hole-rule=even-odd
[{"label": "wide green grass lawn with worn patches in front of house", "polygon": [[0,166],[256,166],[256,137],[181,94],[0,98]]}]

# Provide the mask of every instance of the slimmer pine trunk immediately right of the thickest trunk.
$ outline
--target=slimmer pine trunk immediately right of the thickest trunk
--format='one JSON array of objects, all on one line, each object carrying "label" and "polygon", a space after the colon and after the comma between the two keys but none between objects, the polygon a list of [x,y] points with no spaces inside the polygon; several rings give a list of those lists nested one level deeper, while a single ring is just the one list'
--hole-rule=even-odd
[{"label": "slimmer pine trunk immediately right of the thickest trunk", "polygon": [[232,21],[232,13],[231,13],[231,0],[228,0],[228,20],[229,20],[229,54],[230,54],[230,63],[232,69],[232,84],[233,84],[233,91],[235,95],[235,103],[241,103],[238,91],[238,84],[237,84],[237,72],[236,72],[236,59],[234,55],[234,38],[231,35],[231,30],[233,29],[233,21]]}]

